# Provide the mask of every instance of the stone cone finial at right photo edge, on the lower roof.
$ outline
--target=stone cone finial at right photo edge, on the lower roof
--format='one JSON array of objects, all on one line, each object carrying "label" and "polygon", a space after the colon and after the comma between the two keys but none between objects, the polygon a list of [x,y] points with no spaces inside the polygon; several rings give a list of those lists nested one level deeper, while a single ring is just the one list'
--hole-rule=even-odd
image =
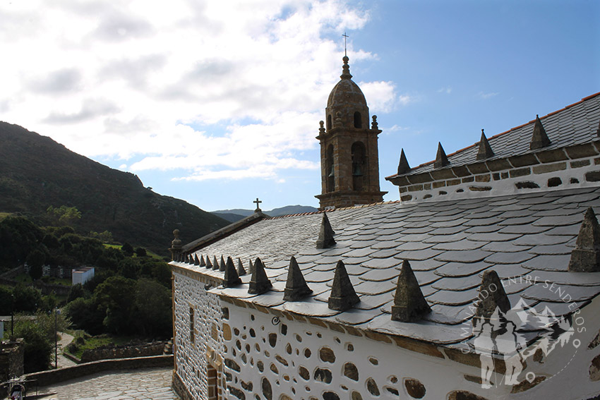
[{"label": "stone cone finial at right photo edge, on the lower roof", "polygon": [[592,207],[583,217],[575,249],[569,260],[570,272],[600,272],[600,225]]}]

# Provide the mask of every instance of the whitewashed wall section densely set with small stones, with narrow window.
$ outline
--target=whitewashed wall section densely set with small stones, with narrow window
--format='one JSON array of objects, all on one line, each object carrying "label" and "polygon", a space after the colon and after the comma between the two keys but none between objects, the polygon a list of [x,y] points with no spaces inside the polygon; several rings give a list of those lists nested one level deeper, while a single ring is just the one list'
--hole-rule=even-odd
[{"label": "whitewashed wall section densely set with small stones, with narrow window", "polygon": [[[193,399],[216,398],[215,385],[209,388],[208,370],[222,369],[222,310],[219,298],[207,293],[198,274],[173,273],[175,371]],[[193,343],[190,336],[190,308],[194,310]],[[221,374],[217,373],[217,382]],[[212,378],[214,379],[214,378]],[[216,385],[221,386],[221,385]]]}]

